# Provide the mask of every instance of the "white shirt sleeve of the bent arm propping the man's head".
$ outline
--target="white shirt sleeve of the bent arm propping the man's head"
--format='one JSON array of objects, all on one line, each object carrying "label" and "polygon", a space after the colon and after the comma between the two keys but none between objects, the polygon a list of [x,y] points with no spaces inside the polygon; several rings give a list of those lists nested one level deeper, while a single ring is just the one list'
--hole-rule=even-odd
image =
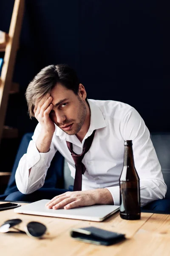
[{"label": "white shirt sleeve of the bent arm propping the man's head", "polygon": [[[40,153],[36,147],[36,140],[41,131],[40,123],[37,125],[27,149],[21,157],[15,174],[18,190],[23,194],[30,194],[44,185],[47,170],[57,149],[51,143],[47,153]],[[29,175],[29,169],[31,172]]]}]

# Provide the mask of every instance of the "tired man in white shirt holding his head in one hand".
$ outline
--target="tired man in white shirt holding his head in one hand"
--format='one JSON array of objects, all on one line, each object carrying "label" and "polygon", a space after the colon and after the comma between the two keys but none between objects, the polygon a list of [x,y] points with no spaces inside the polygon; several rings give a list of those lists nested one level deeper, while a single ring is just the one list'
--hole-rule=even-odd
[{"label": "tired man in white shirt holding his head in one hand", "polygon": [[[141,205],[164,198],[167,187],[161,166],[139,113],[122,102],[87,100],[86,96],[75,71],[62,64],[45,67],[28,85],[28,111],[39,123],[16,171],[19,191],[33,197],[37,191],[41,192],[58,150],[67,160],[71,176],[75,177],[76,191],[54,191],[51,197],[48,195],[50,198],[45,197],[51,199],[48,208],[119,205],[124,140],[132,140]],[[84,154],[89,140],[91,145]],[[75,162],[77,154],[82,153],[81,163]]]}]

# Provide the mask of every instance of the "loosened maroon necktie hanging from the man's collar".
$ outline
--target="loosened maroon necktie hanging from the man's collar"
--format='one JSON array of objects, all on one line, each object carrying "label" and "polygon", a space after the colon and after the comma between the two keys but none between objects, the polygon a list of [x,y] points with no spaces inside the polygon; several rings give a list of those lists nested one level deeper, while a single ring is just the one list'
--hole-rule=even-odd
[{"label": "loosened maroon necktie hanging from the man's collar", "polygon": [[83,145],[83,150],[81,154],[76,154],[73,151],[73,144],[71,142],[66,141],[68,149],[71,152],[71,155],[73,157],[75,167],[76,167],[76,174],[75,174],[75,179],[74,179],[74,191],[81,191],[82,190],[82,174],[85,173],[85,165],[82,163],[82,159],[85,156],[85,153],[89,150],[91,147],[93,138],[94,138],[95,130],[89,136]]}]

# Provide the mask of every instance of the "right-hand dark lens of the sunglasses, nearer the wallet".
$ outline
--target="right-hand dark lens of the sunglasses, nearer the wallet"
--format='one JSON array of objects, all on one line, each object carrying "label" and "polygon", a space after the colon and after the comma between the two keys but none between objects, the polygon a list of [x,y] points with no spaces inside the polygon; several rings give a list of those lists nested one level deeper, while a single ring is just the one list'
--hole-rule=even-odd
[{"label": "right-hand dark lens of the sunglasses, nearer the wallet", "polygon": [[40,237],[45,234],[47,228],[44,224],[36,221],[31,221],[27,224],[28,232],[31,236]]}]

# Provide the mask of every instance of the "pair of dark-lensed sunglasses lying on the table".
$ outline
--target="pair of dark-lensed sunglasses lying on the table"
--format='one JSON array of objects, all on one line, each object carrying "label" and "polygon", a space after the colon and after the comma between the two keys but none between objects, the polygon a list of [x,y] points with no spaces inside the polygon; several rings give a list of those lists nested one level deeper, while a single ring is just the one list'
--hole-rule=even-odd
[{"label": "pair of dark-lensed sunglasses lying on the table", "polygon": [[0,233],[17,232],[27,234],[28,236],[33,238],[41,238],[47,231],[45,225],[37,221],[29,222],[25,227],[25,231],[20,230],[16,226],[18,226],[21,222],[21,219],[11,219],[5,221],[0,226]]}]

